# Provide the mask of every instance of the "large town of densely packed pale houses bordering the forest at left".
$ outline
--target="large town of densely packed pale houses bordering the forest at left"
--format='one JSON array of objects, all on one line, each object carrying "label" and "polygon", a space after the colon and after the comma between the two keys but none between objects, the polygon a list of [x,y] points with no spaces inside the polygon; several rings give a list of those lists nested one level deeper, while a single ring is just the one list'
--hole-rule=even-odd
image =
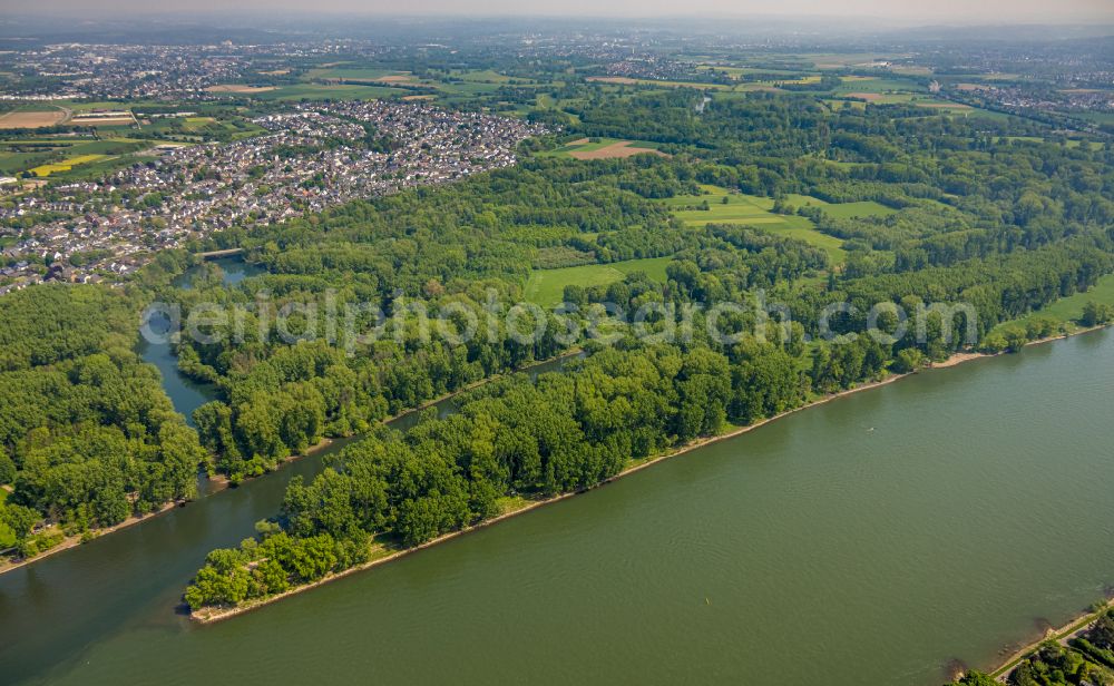
[{"label": "large town of densely packed pale houses bordering the forest at left", "polygon": [[515,163],[540,125],[420,101],[297,104],[253,120],[265,135],[168,146],[94,182],[16,198],[0,294],[46,280],[118,283],[159,249],[237,224],[266,225],[355,198],[451,182]]}]

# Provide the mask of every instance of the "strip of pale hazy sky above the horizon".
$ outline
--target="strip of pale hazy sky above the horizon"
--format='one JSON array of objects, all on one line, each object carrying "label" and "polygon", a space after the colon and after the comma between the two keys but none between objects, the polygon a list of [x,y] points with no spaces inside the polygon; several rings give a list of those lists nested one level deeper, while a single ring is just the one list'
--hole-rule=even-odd
[{"label": "strip of pale hazy sky above the horizon", "polygon": [[[11,0],[0,0],[0,6]],[[453,16],[563,16],[563,17],[663,17],[663,16],[753,16],[780,17],[859,16],[902,22],[994,23],[1017,22],[1114,22],[1114,0],[38,0],[20,3],[20,11],[61,13],[72,11],[155,14],[169,12],[235,11],[275,17],[284,11],[304,13],[453,14]]]}]

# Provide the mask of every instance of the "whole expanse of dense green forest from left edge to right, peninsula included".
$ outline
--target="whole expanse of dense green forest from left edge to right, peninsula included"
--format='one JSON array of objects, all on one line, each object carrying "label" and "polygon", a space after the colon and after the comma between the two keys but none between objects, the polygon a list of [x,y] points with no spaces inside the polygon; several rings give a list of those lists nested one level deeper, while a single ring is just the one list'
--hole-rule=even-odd
[{"label": "whole expanse of dense green forest from left edge to right, peninsula included", "polygon": [[[805,92],[714,98],[697,110],[703,94],[695,89],[576,88],[584,97],[566,108],[575,118],[553,117],[565,128],[526,141],[514,167],[278,225],[256,225],[245,215],[190,246],[243,248],[264,270],[234,286],[209,265],[198,267],[193,287],[174,287],[172,276],[192,261],[168,252],[127,288],[57,284],[0,300],[0,486],[8,493],[0,503],[0,549],[31,555],[59,531],[94,531],[188,499],[198,469],[235,484],[323,439],[371,432],[323,478],[333,480],[329,486],[292,489],[283,514],[263,527],[267,536],[248,543],[251,551],[223,552],[223,562],[206,567],[206,578],[238,579],[246,562],[236,556],[251,552],[274,561],[271,586],[251,594],[193,591],[199,605],[267,595],[281,586],[280,571],[297,584],[311,571],[355,564],[368,555],[369,537],[428,540],[491,517],[507,498],[593,486],[631,460],[727,423],[752,423],[961,349],[1017,350],[1064,325],[1034,312],[1114,272],[1108,146],[1016,139],[1040,133],[1032,121],[926,116],[903,106],[832,108]],[[584,136],[654,141],[667,155],[550,155]],[[771,217],[788,217],[798,228],[716,219],[710,188],[725,199],[772,202]],[[885,212],[843,212],[857,203]],[[690,205],[709,220],[680,218],[678,208]],[[818,236],[839,251],[823,249]],[[540,270],[644,258],[667,261],[664,275],[631,271],[606,284],[569,283],[564,300],[576,311],[546,313],[546,333],[529,342],[504,318],[483,316],[492,297],[522,301]],[[742,335],[724,343],[706,334],[702,312],[758,294],[792,312],[792,324],[773,327],[765,340]],[[244,335],[233,335],[231,322],[214,323],[205,331],[216,335],[176,344],[180,371],[216,391],[192,418],[196,432],[136,354],[137,314],[155,300],[180,305],[184,316],[213,303],[244,313]],[[851,311],[824,322],[825,306],[837,302]],[[605,303],[627,320],[613,322],[618,342],[608,351],[585,333]],[[829,333],[864,333],[877,303],[910,314],[934,303],[971,310],[948,321],[930,314],[924,335],[910,327],[892,342],[828,340]],[[290,305],[372,305],[389,321],[377,340],[352,347],[336,335],[310,335],[309,320],[295,316],[304,335],[291,340],[264,316]],[[629,323],[647,305],[661,306],[647,322],[658,332],[684,324],[676,313],[687,305],[703,310],[685,336],[654,344],[632,335]],[[429,340],[413,314],[420,308],[455,310],[447,324],[453,334],[470,316],[479,326],[467,340]],[[1088,303],[1079,323],[1100,325],[1112,315],[1108,304]],[[720,323],[741,333],[758,317],[736,312]],[[1024,324],[1010,324],[1023,317]],[[359,323],[369,327],[372,318]],[[883,329],[897,324],[882,317]],[[967,324],[974,340],[948,335]],[[423,422],[407,437],[379,429],[408,409],[577,347],[592,353],[583,369],[537,385],[521,379],[492,384],[469,400],[476,418],[462,412]],[[688,371],[671,376],[671,370]],[[609,384],[598,414],[576,394],[577,383]],[[652,395],[658,395],[653,403]],[[521,399],[521,406],[504,396]],[[612,405],[618,409],[608,418]],[[527,406],[537,412],[516,414]],[[653,421],[639,414],[649,408]],[[480,419],[508,443],[473,460],[457,432],[487,431],[472,425]],[[566,442],[529,448],[527,433],[537,439],[558,420],[570,432]],[[643,421],[633,431],[633,422]],[[416,464],[429,473],[412,471]],[[342,482],[354,488],[356,474],[367,491],[361,497],[373,502],[351,506],[360,512],[354,520],[321,523],[305,503]],[[46,527],[52,523],[58,527]],[[260,552],[264,546],[282,552]],[[293,560],[309,558],[334,559],[295,568]]]}]

